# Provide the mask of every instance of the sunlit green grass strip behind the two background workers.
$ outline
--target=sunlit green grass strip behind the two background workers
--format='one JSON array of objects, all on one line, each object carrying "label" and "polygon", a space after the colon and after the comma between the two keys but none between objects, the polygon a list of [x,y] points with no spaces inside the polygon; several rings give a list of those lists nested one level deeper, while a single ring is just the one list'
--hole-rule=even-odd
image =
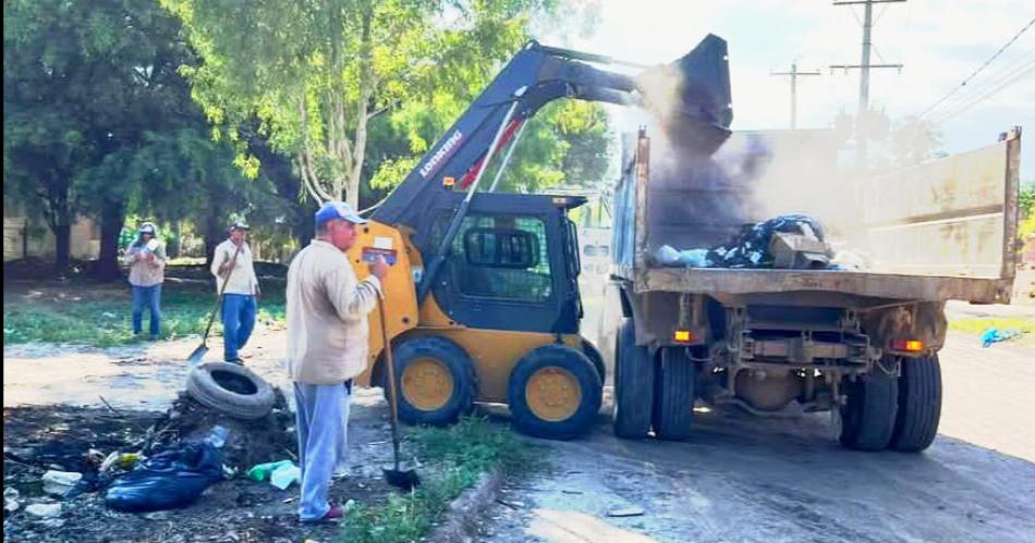
[{"label": "sunlit green grass strip behind the two background workers", "polygon": [[[69,287],[80,293],[89,292],[90,284]],[[101,288],[95,285],[95,288]],[[102,288],[110,288],[104,285]],[[265,291],[264,291],[265,292]],[[174,340],[202,334],[215,306],[214,294],[198,285],[167,282],[161,295],[161,338]],[[269,293],[259,305],[260,322],[284,319],[283,292]],[[144,332],[147,333],[149,313],[144,311]],[[217,316],[212,334],[222,333]],[[130,287],[111,289],[110,296],[75,299],[16,299],[3,303],[3,343],[19,344],[47,342],[113,347],[138,342],[133,335]]]}]

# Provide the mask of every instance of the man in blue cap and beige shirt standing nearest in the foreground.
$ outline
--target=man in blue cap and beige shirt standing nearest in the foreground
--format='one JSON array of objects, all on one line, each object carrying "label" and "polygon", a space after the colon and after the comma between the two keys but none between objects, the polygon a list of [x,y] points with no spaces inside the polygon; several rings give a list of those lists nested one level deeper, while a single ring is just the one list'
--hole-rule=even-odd
[{"label": "man in blue cap and beige shirt standing nearest in the foreground", "polygon": [[294,382],[302,467],[299,516],[333,520],[331,476],[343,456],[352,379],[366,370],[367,313],[377,305],[388,264],[379,259],[363,281],[343,251],[365,223],[348,203],[331,201],[316,212],[316,239],[288,269],[288,372]]}]

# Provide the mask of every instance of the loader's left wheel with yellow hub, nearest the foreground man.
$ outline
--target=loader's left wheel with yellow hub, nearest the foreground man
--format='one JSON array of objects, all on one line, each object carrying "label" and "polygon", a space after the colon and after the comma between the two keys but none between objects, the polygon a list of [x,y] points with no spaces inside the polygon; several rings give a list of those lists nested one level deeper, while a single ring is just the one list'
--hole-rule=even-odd
[{"label": "loader's left wheel with yellow hub, nearest the foreground man", "polygon": [[[434,335],[414,337],[395,347],[393,354],[399,420],[407,424],[445,425],[455,422],[474,406],[474,363],[460,345]],[[387,377],[382,381],[387,399]]]}]

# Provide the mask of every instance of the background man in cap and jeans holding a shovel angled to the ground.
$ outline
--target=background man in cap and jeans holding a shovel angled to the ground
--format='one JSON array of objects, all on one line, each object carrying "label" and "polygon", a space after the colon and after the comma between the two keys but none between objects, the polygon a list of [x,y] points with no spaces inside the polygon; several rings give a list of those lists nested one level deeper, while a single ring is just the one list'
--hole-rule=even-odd
[{"label": "background man in cap and jeans holding a shovel angled to the ground", "polygon": [[227,283],[226,289],[216,293],[223,297],[223,360],[241,365],[244,362],[238,351],[248,343],[255,329],[255,311],[261,295],[252,261],[252,247],[245,239],[247,232],[247,224],[233,223],[230,238],[216,246],[211,267],[216,288],[222,288],[223,282]]}]

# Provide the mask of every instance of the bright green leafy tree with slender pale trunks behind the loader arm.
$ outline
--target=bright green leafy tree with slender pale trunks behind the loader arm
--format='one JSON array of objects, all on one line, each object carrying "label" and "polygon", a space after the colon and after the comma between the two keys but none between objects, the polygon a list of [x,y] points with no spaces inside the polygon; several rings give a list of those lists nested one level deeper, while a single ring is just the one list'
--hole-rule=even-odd
[{"label": "bright green leafy tree with slender pale trunks behind the loader arm", "polygon": [[[358,203],[369,123],[386,108],[462,95],[527,38],[549,0],[161,0],[205,62],[184,73],[217,126],[260,134],[292,159],[305,194]],[[239,165],[257,170],[241,145]],[[392,165],[394,162],[388,165]]]}]

